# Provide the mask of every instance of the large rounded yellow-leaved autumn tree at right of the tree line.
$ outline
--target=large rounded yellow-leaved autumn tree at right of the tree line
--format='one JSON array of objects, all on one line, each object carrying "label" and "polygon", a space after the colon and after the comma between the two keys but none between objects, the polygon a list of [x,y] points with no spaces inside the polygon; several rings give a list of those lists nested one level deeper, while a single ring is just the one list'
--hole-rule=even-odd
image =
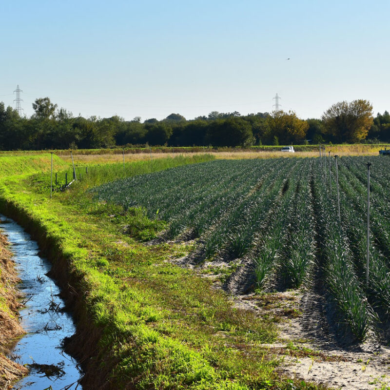
[{"label": "large rounded yellow-leaved autumn tree at right of the tree line", "polygon": [[363,99],[340,101],[324,112],[322,121],[326,133],[337,142],[359,142],[367,137],[372,126],[372,105]]}]

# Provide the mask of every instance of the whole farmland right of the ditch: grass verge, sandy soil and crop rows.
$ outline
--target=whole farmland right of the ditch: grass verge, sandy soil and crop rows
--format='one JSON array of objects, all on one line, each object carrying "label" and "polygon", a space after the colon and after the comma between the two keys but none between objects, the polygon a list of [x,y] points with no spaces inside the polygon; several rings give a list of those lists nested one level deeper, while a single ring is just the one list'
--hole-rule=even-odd
[{"label": "whole farmland right of the ditch: grass verge, sandy soil and crop rows", "polygon": [[14,164],[0,207],[54,262],[86,389],[387,389],[389,159],[339,159],[340,219],[333,158],[90,160],[66,191],[56,161],[52,198]]}]

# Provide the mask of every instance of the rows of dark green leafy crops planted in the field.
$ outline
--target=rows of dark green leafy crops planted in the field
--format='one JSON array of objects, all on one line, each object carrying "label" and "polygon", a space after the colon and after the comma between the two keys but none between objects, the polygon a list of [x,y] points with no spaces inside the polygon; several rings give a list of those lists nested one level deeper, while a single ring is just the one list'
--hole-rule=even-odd
[{"label": "rows of dark green leafy crops planted in the field", "polygon": [[[368,161],[374,168],[366,289]],[[208,260],[236,266],[240,260],[226,281],[228,290],[234,280],[234,292],[283,291],[311,285],[320,273],[337,305],[334,314],[363,341],[370,332],[380,333],[390,309],[389,160],[340,160],[340,221],[334,163],[330,195],[328,159],[326,169],[318,162],[212,161],[115,181],[94,193],[98,201],[124,210],[143,207],[148,218],[167,222],[161,239],[196,238],[198,245],[188,259],[194,264]]]}]

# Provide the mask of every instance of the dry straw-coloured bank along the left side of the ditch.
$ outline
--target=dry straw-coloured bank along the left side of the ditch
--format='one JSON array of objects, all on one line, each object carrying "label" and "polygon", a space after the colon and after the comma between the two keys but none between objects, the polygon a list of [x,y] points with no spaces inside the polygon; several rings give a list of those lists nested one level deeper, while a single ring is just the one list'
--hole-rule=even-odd
[{"label": "dry straw-coloured bank along the left side of the ditch", "polygon": [[18,310],[22,306],[17,300],[20,298],[16,289],[19,278],[7,246],[6,237],[0,234],[0,389],[7,389],[11,382],[28,372],[6,357],[10,341],[24,333],[18,318]]}]

